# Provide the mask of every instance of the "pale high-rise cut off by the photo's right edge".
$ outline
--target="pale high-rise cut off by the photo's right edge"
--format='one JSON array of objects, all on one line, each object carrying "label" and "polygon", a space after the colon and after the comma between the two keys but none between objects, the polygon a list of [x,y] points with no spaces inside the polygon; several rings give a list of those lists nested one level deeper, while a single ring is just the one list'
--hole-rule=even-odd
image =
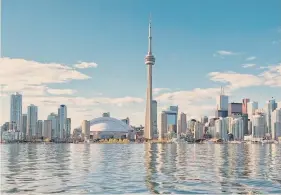
[{"label": "pale high-rise cut off by the photo's right edge", "polygon": [[281,108],[275,109],[271,114],[272,139],[281,137]]}]

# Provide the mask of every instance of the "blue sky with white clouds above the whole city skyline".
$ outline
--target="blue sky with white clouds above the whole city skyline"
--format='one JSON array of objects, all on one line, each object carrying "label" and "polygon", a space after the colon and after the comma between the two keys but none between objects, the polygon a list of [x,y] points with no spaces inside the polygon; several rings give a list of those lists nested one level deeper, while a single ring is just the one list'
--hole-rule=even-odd
[{"label": "blue sky with white clouds above the whole city skyline", "polygon": [[72,128],[103,112],[143,125],[150,14],[158,113],[214,116],[221,86],[281,101],[280,0],[2,0],[0,122],[20,92],[41,120],[65,104]]}]

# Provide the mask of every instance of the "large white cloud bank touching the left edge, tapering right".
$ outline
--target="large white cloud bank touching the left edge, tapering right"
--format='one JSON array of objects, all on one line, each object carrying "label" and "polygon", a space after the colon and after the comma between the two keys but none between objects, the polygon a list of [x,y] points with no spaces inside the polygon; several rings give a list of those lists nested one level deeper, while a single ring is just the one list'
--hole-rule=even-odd
[{"label": "large white cloud bank touching the left edge, tapering right", "polygon": [[63,64],[40,63],[24,59],[0,58],[0,83],[11,90],[26,85],[43,85],[49,83],[65,83],[70,80],[90,79],[77,70]]}]

